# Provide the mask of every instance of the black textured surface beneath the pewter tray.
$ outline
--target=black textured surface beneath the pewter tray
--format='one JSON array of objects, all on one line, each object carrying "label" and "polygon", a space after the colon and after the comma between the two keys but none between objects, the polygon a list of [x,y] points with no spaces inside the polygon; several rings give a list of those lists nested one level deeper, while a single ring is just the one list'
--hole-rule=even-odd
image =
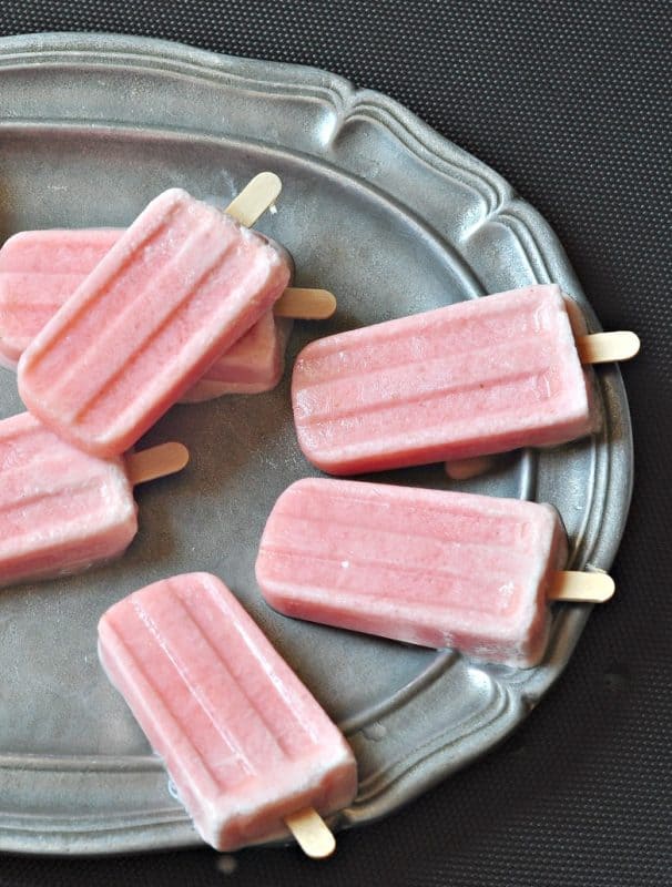
[{"label": "black textured surface beneath the pewter tray", "polygon": [[0,887],[672,885],[671,19],[668,0],[0,0],[2,35],[147,34],[388,93],[540,210],[603,326],[643,341],[623,367],[637,475],[618,597],[506,745],[340,835],[326,864],[294,849],[4,855]]}]

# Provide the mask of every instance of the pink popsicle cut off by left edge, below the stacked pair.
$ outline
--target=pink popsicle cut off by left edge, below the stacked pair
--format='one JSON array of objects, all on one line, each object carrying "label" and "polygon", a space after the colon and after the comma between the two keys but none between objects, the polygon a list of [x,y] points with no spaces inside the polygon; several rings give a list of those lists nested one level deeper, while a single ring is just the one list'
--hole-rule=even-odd
[{"label": "pink popsicle cut off by left edge, below the stacked pair", "polygon": [[85,570],[138,531],[133,486],[179,471],[181,443],[99,459],[29,412],[0,421],[0,585]]}]

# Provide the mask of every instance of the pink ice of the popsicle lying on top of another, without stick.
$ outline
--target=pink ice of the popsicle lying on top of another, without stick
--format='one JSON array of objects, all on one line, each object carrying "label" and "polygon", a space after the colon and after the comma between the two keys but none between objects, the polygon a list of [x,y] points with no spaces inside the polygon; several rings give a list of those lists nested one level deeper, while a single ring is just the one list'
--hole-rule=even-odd
[{"label": "pink ice of the popsicle lying on top of another, without stick", "polygon": [[95,456],[129,449],[273,307],[286,259],[185,191],[150,203],[19,361],[24,404]]}]

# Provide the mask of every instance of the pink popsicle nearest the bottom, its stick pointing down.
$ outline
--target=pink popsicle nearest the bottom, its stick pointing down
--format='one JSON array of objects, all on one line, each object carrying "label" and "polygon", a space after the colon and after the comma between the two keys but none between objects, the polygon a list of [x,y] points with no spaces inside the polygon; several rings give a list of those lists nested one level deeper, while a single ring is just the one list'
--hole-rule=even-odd
[{"label": "pink popsicle nearest the bottom, its stick pointing down", "polygon": [[[155,582],[114,604],[99,652],[205,842],[283,837],[350,803],[340,732],[228,589],[208,573]],[[319,826],[318,826],[319,828]],[[309,828],[308,828],[309,830]],[[312,855],[327,855],[318,833]]]}]

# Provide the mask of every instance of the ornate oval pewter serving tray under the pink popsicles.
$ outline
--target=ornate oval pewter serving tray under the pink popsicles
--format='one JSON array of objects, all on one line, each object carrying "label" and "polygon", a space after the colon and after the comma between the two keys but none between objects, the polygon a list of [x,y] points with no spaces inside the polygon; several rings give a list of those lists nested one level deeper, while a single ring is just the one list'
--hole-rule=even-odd
[{"label": "ornate oval pewter serving tray under the pink popsicles", "polygon": [[[296,282],[337,294],[325,324],[297,324],[288,365],[316,336],[532,282],[556,281],[599,329],[548,225],[492,170],[396,102],[308,68],[146,39],[0,40],[0,238],[21,228],[124,225],[163,188],[220,206],[261,170],[284,191],[258,227],[292,252]],[[21,410],[0,370],[0,416]],[[146,443],[183,440],[192,462],[138,490],[125,558],[0,592],[0,849],[102,853],[198,838],[98,664],[95,625],[122,595],[187,570],[221,575],[330,715],[359,762],[359,794],[334,820],[387,815],[510,733],[560,674],[589,609],[559,605],[530,671],[301,623],[254,580],[264,521],[315,473],[296,445],[284,383],[266,395],[179,406]],[[628,510],[632,443],[614,368],[598,373],[600,435],[502,457],[454,483],[550,501],[573,568],[608,569]],[[441,466],[385,481],[449,487]]]}]

